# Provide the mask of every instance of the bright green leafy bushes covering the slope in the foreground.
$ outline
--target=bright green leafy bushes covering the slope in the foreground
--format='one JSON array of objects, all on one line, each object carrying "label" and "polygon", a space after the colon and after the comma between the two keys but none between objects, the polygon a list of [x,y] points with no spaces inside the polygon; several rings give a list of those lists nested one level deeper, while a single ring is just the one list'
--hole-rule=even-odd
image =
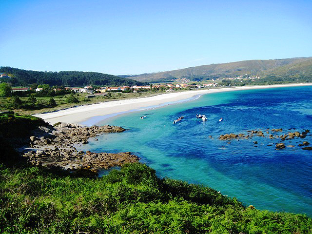
[{"label": "bright green leafy bushes covering the slope in the foreground", "polygon": [[0,233],[312,233],[305,215],[246,208],[145,164],[97,179],[0,167]]}]

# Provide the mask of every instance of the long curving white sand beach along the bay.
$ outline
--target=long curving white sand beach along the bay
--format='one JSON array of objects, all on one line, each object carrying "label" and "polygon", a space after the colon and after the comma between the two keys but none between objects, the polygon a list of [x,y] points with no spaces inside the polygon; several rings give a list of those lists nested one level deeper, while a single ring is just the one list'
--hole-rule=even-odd
[{"label": "long curving white sand beach along the bay", "polygon": [[157,105],[160,106],[164,103],[189,100],[190,98],[203,94],[228,92],[235,90],[263,89],[263,88],[290,87],[303,85],[312,85],[312,83],[242,86],[242,87],[216,88],[216,89],[211,88],[207,90],[194,90],[194,91],[192,90],[185,92],[166,93],[147,98],[108,101],[98,104],[78,106],[57,112],[37,114],[34,116],[43,118],[45,121],[51,124],[57,122],[81,123],[82,121],[85,121],[91,117],[97,116],[104,117],[113,114],[116,115],[117,113],[122,114],[131,110],[139,110],[141,108],[148,108],[152,106],[155,107]]}]

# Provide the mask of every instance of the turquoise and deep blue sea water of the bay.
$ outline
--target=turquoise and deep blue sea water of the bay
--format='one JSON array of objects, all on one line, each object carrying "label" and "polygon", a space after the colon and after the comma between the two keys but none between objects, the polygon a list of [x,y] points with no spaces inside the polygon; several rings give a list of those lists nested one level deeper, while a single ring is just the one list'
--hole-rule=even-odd
[{"label": "turquoise and deep blue sea water of the bay", "polygon": [[[204,114],[208,120],[196,119],[196,114]],[[143,115],[147,117],[140,119]],[[179,116],[184,119],[173,124]],[[220,117],[224,121],[219,122]],[[303,141],[312,146],[311,86],[208,94],[193,101],[106,118],[98,124],[130,130],[105,134],[98,141],[79,146],[79,150],[130,151],[158,176],[209,186],[258,209],[312,216],[312,151],[298,146]],[[274,146],[282,142],[280,139],[253,137],[232,140],[231,144],[218,139],[221,134],[247,134],[250,129],[265,132],[267,128],[283,128],[283,133],[311,132],[303,139],[283,141],[294,147],[280,151]]]}]

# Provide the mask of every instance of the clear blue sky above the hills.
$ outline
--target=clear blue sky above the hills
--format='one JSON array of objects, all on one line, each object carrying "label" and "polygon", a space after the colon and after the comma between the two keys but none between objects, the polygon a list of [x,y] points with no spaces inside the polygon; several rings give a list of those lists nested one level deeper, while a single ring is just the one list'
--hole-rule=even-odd
[{"label": "clear blue sky above the hills", "polygon": [[312,56],[312,0],[0,0],[0,66],[114,75]]}]

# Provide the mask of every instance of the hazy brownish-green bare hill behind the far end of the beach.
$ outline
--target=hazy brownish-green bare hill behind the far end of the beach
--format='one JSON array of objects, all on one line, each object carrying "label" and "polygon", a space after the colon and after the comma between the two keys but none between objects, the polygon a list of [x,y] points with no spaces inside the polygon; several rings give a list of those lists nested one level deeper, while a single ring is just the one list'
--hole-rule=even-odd
[{"label": "hazy brownish-green bare hill behind the far end of the beach", "polygon": [[210,78],[229,78],[240,75],[295,75],[312,74],[312,57],[292,59],[247,60],[220,64],[188,67],[179,70],[148,73],[141,75],[121,76],[138,81],[158,82],[178,78],[201,80]]}]

